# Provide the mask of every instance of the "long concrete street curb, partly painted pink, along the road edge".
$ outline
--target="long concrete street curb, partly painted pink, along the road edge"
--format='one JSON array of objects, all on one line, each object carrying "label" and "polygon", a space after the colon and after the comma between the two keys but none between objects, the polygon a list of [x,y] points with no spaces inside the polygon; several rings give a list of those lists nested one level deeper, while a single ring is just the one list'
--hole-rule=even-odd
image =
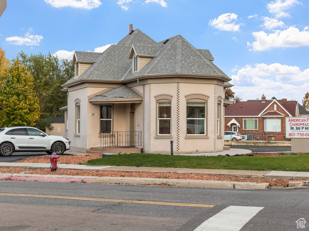
[{"label": "long concrete street curb, partly painted pink, along the road edge", "polygon": [[[32,175],[32,174],[31,174]],[[63,176],[63,175],[35,175],[33,174],[0,174],[0,180],[43,181],[43,182],[78,182],[101,184],[167,184],[188,188],[229,188],[229,189],[267,189],[269,183],[219,181],[219,180],[184,180],[158,179],[140,177],[96,177],[96,176]]]}]

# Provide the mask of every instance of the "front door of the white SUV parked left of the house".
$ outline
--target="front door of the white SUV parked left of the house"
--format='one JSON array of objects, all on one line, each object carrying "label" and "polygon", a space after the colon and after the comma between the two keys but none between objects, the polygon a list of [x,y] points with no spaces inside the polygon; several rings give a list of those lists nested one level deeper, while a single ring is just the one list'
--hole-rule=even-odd
[{"label": "front door of the white SUV parked left of the house", "polygon": [[26,128],[29,137],[29,149],[33,150],[47,150],[48,136],[40,136],[41,131],[35,128]]}]

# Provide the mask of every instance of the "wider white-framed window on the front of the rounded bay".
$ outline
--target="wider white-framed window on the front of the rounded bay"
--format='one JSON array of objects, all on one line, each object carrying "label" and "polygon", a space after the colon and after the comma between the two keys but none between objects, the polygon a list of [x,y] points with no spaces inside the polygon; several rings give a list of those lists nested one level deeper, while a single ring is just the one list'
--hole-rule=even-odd
[{"label": "wider white-framed window on the front of the rounded bay", "polygon": [[206,135],[206,103],[187,102],[187,134]]}]

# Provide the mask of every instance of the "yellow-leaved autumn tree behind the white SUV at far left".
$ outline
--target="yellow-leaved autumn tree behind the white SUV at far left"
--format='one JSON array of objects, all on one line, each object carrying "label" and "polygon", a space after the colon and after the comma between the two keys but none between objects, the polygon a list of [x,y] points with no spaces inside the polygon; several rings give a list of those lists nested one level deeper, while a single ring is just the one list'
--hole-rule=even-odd
[{"label": "yellow-leaved autumn tree behind the white SUV at far left", "polygon": [[1,74],[1,127],[34,126],[40,116],[39,99],[34,90],[34,79],[18,57]]}]

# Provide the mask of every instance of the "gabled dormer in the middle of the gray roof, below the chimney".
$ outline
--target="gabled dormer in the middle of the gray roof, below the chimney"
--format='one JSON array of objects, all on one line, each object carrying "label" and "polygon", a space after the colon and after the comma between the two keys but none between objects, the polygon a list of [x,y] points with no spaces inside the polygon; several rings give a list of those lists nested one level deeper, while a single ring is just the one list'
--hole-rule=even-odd
[{"label": "gabled dormer in the middle of the gray roof, below the chimney", "polygon": [[132,59],[132,73],[142,70],[151,59],[153,59],[160,47],[156,46],[131,46],[129,59]]}]

